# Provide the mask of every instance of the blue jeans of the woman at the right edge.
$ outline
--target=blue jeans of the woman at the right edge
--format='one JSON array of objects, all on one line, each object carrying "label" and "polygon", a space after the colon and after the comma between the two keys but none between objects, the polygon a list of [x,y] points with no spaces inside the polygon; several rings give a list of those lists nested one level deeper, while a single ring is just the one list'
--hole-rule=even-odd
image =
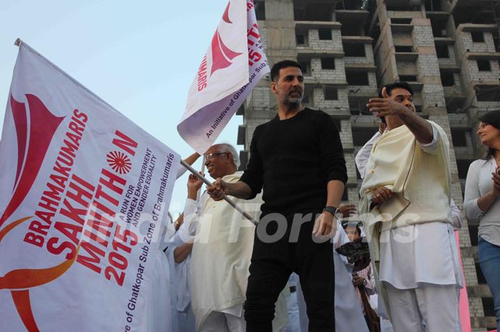
[{"label": "blue jeans of the woman at the right edge", "polygon": [[478,255],[481,270],[492,292],[497,330],[500,331],[500,247],[478,238]]}]

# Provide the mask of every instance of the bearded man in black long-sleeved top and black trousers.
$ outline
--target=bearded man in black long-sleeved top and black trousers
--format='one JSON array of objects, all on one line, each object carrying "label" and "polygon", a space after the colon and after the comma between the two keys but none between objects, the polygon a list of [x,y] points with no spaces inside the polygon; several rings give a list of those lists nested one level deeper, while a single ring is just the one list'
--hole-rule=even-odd
[{"label": "bearded man in black long-sleeved top and black trousers", "polygon": [[347,181],[342,144],[331,116],[301,105],[304,82],[297,62],[276,63],[271,79],[278,114],[253,133],[240,181],[217,179],[208,193],[215,200],[224,194],[251,199],[263,189],[244,304],[247,332],[272,331],[274,303],[292,272],[300,277],[309,331],[331,332],[335,313],[329,239]]}]

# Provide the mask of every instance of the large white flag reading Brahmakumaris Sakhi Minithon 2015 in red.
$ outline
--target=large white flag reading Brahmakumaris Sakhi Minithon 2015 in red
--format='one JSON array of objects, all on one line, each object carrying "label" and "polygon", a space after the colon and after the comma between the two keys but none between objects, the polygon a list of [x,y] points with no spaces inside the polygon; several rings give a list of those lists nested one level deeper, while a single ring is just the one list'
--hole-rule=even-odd
[{"label": "large white flag reading Brahmakumaris Sakhi Minithon 2015 in red", "polygon": [[1,331],[144,331],[179,161],[22,43],[0,142]]}]

